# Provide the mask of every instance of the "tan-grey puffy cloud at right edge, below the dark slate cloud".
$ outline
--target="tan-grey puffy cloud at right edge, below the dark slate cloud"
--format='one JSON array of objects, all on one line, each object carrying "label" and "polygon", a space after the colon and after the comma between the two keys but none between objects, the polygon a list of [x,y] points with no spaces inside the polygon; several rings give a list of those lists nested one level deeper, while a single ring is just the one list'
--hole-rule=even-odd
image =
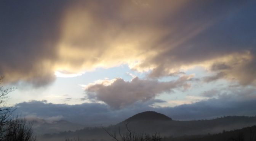
[{"label": "tan-grey puffy cloud at right edge, below the dark slate cloud", "polygon": [[238,81],[241,85],[255,85],[256,78],[256,54],[255,52],[235,53],[222,60],[216,60],[210,66],[210,71],[216,75],[204,77],[203,80],[211,82],[220,78]]}]

